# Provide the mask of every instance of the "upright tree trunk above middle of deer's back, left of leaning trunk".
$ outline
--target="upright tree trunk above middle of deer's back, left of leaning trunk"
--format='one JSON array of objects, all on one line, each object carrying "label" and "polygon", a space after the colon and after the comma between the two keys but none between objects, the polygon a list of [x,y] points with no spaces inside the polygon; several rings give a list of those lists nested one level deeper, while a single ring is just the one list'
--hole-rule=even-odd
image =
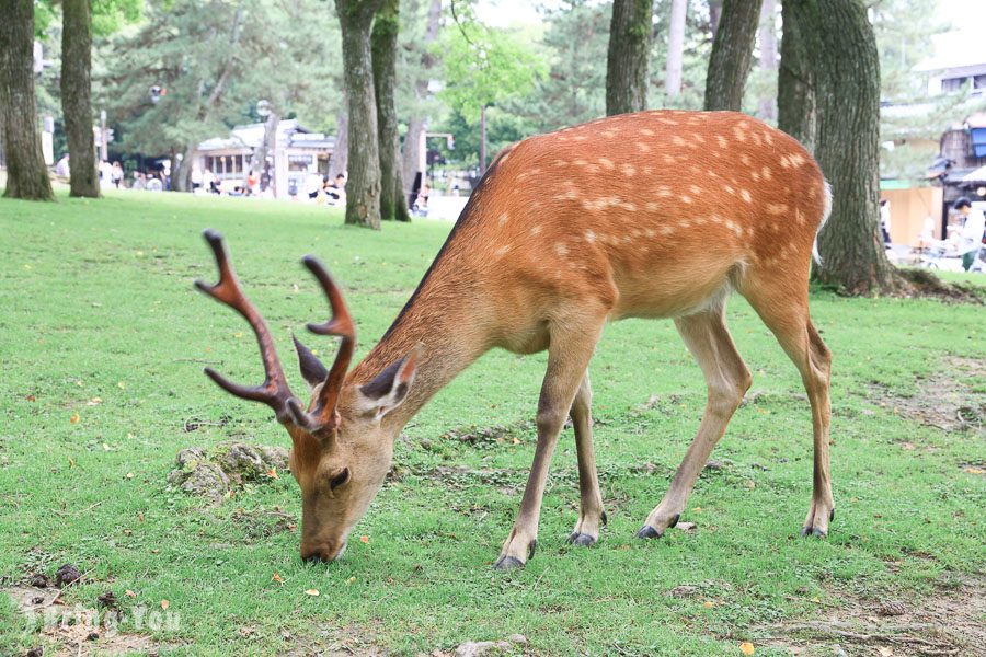
[{"label": "upright tree trunk above middle of deer's back, left of leaning trunk", "polygon": [[647,105],[651,0],[615,0],[606,66],[606,114],[640,112]]}]

